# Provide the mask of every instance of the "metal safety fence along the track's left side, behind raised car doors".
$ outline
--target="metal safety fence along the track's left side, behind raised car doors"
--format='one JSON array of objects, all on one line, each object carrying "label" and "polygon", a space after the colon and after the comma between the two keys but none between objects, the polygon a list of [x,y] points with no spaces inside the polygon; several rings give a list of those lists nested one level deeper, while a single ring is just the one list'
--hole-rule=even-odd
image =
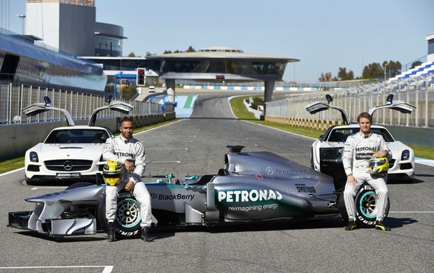
[{"label": "metal safety fence along the track's left side, behind raised car doors", "polygon": [[[51,105],[66,109],[73,120],[88,120],[92,111],[98,107],[107,105],[106,97],[101,94],[86,94],[54,88],[34,87],[31,85],[18,85],[0,82],[0,125],[12,123],[34,123],[45,121],[65,120],[62,113],[48,111],[32,117],[24,116],[21,109],[36,102],[44,102],[43,97],[50,97]],[[147,116],[160,113],[174,112],[174,104],[161,104],[152,102],[139,102],[114,98],[134,106],[129,116]],[[116,111],[104,110],[98,114],[98,118],[117,118],[122,116]]]}]

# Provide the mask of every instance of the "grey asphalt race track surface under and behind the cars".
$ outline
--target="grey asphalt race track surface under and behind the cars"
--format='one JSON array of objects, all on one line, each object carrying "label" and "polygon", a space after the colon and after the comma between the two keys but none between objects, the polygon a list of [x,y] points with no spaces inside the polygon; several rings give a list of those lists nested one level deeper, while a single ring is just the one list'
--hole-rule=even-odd
[{"label": "grey asphalt race track surface under and behind the cars", "polygon": [[[200,94],[193,115],[135,134],[146,175],[214,174],[226,145],[272,151],[309,166],[313,139],[236,120],[224,94]],[[7,228],[23,199],[65,186],[27,186],[24,171],[0,176],[0,272],[432,272],[434,167],[416,165],[412,184],[389,183],[391,232],[344,230],[340,219],[218,228],[153,230],[155,241],[109,243],[106,235],[53,239]]]}]

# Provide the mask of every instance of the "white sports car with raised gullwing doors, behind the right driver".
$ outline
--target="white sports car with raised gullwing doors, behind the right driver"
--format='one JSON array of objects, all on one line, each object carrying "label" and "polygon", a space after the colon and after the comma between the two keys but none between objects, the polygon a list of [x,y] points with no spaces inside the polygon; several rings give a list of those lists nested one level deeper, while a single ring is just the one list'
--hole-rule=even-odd
[{"label": "white sports car with raised gullwing doors, behind the right driver", "polygon": [[[331,106],[332,97],[326,95],[327,102],[313,102],[306,106],[309,113],[314,114],[327,109],[336,109],[341,112],[344,125],[329,127],[311,146],[311,167],[316,171],[333,176],[335,181],[341,181],[344,187],[346,175],[342,165],[342,152],[346,138],[356,134],[360,127],[358,124],[350,124],[349,118],[344,109]],[[387,98],[387,103],[370,109],[372,115],[378,109],[393,109],[401,113],[412,113],[416,107],[402,101],[393,102],[393,94]],[[414,179],[414,152],[412,148],[395,141],[385,127],[372,125],[372,132],[381,134],[392,153],[392,160],[389,162],[388,179],[402,179],[411,182]]]}]

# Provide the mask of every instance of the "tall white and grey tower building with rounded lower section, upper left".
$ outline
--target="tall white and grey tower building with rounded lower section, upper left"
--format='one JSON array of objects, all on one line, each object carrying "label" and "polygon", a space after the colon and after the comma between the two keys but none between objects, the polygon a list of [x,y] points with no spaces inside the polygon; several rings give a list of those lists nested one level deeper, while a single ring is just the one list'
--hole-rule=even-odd
[{"label": "tall white and grey tower building with rounded lower section, upper left", "polygon": [[25,34],[75,56],[122,56],[123,27],[95,20],[94,0],[27,0]]}]

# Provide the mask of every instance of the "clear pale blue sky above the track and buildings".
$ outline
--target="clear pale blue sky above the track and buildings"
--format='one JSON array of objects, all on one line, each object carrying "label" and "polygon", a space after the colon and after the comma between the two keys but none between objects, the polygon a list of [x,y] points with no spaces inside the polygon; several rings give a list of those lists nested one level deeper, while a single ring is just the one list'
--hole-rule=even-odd
[{"label": "clear pale blue sky above the track and buildings", "polygon": [[[26,1],[0,3],[1,27],[22,33],[16,15],[25,14]],[[411,64],[427,55],[426,35],[434,33],[433,0],[95,0],[95,6],[97,22],[124,28],[125,56],[230,46],[300,59],[283,75],[299,83],[337,76],[339,67],[357,77],[374,62]]]}]

